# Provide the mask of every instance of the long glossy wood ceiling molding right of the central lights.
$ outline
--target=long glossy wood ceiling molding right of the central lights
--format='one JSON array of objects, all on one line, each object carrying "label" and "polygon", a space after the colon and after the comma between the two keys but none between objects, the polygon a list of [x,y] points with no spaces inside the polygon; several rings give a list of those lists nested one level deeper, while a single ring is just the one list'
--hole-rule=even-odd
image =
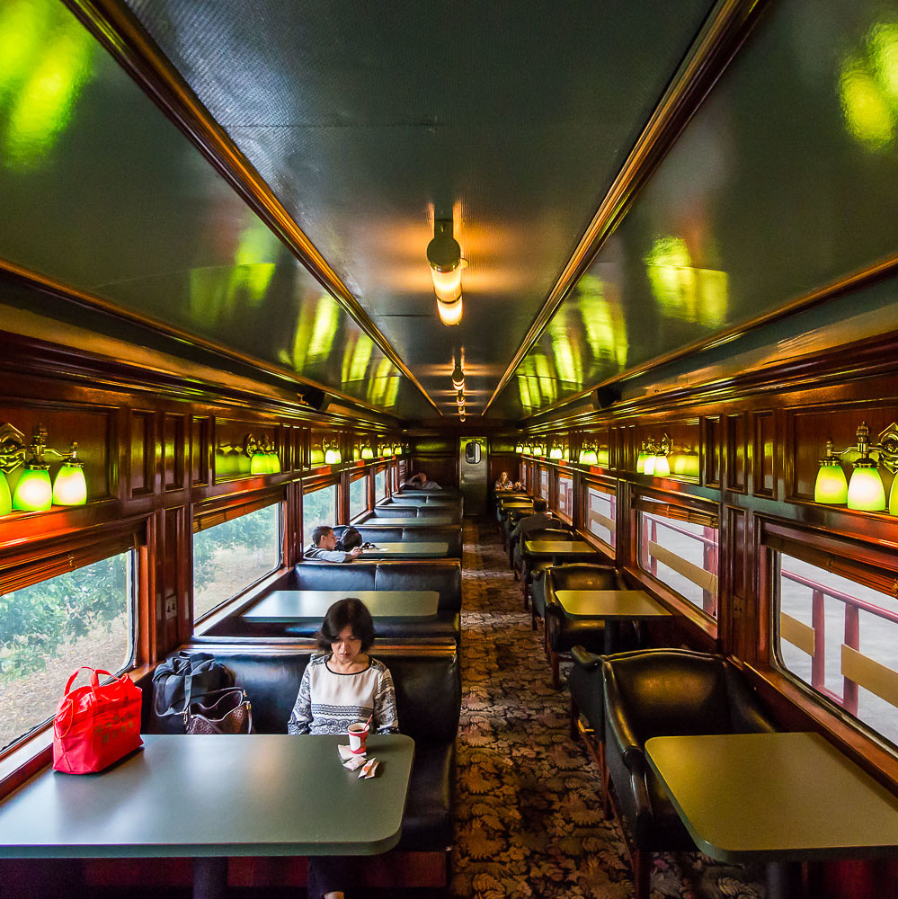
[{"label": "long glossy wood ceiling molding right of the central lights", "polygon": [[680,133],[704,102],[748,37],[766,0],[720,0],[689,48],[686,58],[636,140],[617,178],[549,292],[533,324],[487,400],[482,414],[511,380],[515,370],[546,329],[557,308],[591,265],[605,241],[627,215],[636,195],[645,186]]}]

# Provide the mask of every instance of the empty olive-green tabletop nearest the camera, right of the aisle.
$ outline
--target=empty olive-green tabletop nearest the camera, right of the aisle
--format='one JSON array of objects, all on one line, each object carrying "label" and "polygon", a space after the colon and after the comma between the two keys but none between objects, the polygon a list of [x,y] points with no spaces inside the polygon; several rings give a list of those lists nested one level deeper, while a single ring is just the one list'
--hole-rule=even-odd
[{"label": "empty olive-green tabletop nearest the camera, right of the aisle", "polygon": [[713,859],[898,855],[898,797],[819,734],[656,736],[645,754]]}]

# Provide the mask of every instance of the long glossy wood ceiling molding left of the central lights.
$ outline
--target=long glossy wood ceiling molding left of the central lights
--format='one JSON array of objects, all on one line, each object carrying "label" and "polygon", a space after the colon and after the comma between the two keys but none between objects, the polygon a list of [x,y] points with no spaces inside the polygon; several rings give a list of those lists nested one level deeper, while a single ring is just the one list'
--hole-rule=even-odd
[{"label": "long glossy wood ceiling molding left of the central lights", "polygon": [[280,204],[262,175],[218,125],[125,4],[118,0],[64,2],[442,416],[440,407],[414,377],[392,343],[374,324],[325,257]]}]

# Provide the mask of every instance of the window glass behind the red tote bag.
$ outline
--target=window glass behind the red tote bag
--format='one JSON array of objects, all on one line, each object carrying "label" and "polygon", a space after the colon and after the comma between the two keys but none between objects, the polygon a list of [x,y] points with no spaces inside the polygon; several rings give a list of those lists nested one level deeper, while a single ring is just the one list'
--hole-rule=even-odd
[{"label": "window glass behind the red tote bag", "polygon": [[49,722],[79,665],[131,666],[133,572],[129,549],[0,595],[0,750]]}]

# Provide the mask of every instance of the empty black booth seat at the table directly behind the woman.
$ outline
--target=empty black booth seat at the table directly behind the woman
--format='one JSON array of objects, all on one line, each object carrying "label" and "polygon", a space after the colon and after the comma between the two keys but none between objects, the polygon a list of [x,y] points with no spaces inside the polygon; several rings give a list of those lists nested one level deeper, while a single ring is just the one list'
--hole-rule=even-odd
[{"label": "empty black booth seat at the table directly behind the woman", "polygon": [[[389,639],[447,637],[461,635],[461,562],[458,559],[427,559],[421,562],[334,562],[303,561],[271,585],[276,590],[339,590],[351,596],[360,590],[431,590],[440,594],[434,617],[375,619],[378,636]],[[262,601],[264,596],[258,597]],[[243,617],[241,610],[213,625],[209,636],[315,636],[320,621],[266,622]]]}]

